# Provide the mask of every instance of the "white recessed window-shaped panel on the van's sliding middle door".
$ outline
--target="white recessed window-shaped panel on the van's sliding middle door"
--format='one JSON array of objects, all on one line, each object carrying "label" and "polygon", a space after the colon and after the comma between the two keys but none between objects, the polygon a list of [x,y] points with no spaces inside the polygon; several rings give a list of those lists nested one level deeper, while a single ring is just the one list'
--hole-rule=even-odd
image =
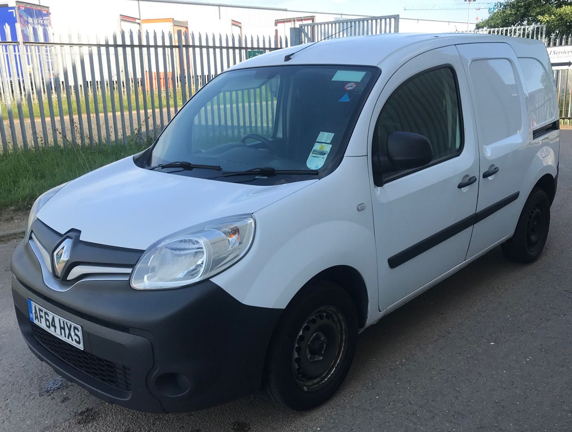
[{"label": "white recessed window-shaped panel on the van's sliding middle door", "polygon": [[511,62],[506,58],[475,60],[470,74],[479,143],[492,144],[521,132],[521,98]]}]

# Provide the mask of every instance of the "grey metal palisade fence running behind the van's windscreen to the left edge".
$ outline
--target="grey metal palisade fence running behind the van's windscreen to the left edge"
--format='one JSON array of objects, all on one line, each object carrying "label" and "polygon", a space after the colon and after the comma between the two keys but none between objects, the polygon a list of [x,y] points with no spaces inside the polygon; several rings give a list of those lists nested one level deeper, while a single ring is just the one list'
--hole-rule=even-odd
[{"label": "grey metal palisade fence running behind the van's windscreen to the left edge", "polygon": [[[0,41],[0,151],[149,142],[206,82],[288,39],[113,34]],[[256,96],[256,94],[255,94]],[[256,101],[254,101],[256,103]],[[246,119],[243,119],[246,121]]]}]

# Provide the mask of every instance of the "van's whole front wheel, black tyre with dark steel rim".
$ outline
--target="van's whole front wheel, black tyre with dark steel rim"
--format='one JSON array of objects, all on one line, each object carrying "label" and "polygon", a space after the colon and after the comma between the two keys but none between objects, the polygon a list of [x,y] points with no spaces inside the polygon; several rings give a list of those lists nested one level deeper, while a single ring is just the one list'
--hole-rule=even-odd
[{"label": "van's whole front wheel, black tyre with dark steel rim", "polygon": [[352,364],[358,316],[331,282],[305,287],[284,310],[268,348],[263,387],[272,401],[309,410],[339,389]]}]

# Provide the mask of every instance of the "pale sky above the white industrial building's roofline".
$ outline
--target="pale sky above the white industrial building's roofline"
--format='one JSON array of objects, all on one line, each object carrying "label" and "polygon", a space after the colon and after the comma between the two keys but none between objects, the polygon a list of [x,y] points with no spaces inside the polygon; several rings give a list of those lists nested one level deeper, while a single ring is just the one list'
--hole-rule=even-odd
[{"label": "pale sky above the white industrial building's roofline", "polygon": [[[317,12],[335,12],[356,15],[394,15],[404,18],[443,19],[447,21],[467,21],[467,5],[464,0],[202,0],[212,3],[226,3],[232,5],[285,7],[290,10],[304,10]],[[480,1],[480,3],[486,3]],[[462,10],[404,10],[405,6],[421,5],[462,5]],[[483,19],[488,16],[488,7],[480,10],[479,1],[471,2],[469,20],[476,22],[476,18]]]}]

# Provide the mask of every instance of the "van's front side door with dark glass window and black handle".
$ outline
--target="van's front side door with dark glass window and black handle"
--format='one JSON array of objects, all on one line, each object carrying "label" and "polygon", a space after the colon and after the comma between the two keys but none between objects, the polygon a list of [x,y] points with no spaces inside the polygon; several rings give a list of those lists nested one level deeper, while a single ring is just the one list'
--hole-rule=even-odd
[{"label": "van's front side door with dark glass window and black handle", "polygon": [[388,312],[462,263],[471,238],[479,157],[454,46],[415,57],[387,82],[370,125],[371,154],[385,152],[395,131],[426,136],[434,157],[424,167],[389,173],[383,185],[371,184],[379,309]]}]

